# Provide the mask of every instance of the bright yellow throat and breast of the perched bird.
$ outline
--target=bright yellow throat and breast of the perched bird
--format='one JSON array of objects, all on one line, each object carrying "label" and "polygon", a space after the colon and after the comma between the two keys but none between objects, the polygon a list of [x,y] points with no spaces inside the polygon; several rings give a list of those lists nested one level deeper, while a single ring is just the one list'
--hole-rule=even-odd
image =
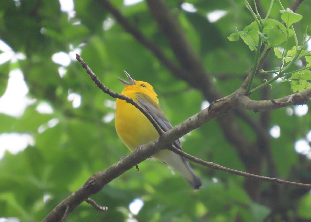
[{"label": "bright yellow throat and breast of the perched bird", "polygon": [[[127,91],[122,94],[136,100],[135,93],[135,91]],[[135,151],[136,147],[159,137],[158,132],[147,117],[135,106],[124,100],[117,99],[114,124],[118,136],[132,152]]]}]

